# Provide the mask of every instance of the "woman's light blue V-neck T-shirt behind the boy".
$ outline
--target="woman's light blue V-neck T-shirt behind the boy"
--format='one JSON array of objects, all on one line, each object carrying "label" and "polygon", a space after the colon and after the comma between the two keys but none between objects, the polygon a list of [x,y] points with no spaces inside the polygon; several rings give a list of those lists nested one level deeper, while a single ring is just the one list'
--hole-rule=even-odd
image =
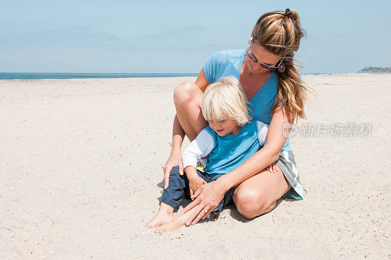
[{"label": "woman's light blue V-neck T-shirt behind the boy", "polygon": [[[204,61],[204,74],[209,83],[214,83],[221,78],[233,76],[239,80],[240,69],[246,55],[246,49],[224,50],[214,53]],[[269,124],[272,120],[272,108],[277,98],[277,74],[273,71],[261,89],[248,100],[250,104],[249,115],[253,120]],[[282,151],[292,150],[289,138],[286,140]]]}]

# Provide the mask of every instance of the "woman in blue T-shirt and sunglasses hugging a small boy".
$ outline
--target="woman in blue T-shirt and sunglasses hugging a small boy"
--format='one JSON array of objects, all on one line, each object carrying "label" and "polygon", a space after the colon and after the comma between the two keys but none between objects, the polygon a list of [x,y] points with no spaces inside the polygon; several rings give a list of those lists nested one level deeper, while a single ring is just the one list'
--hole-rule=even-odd
[{"label": "woman in blue T-shirt and sunglasses hugging a small boy", "polygon": [[206,218],[231,187],[235,187],[233,201],[239,213],[248,219],[271,211],[282,196],[303,199],[289,138],[283,133],[283,127],[295,118],[305,119],[307,87],[293,64],[293,52],[303,36],[298,13],[289,9],[266,13],[255,24],[247,49],[215,53],[205,60],[195,83],[186,81],[175,87],[173,145],[163,166],[165,188],[173,166],[183,172],[181,145],[185,135],[193,141],[208,125],[200,105],[210,83],[228,75],[238,78],[251,103],[250,116],[270,124],[266,142],[255,155],[232,172],[202,185],[193,195],[196,199],[182,213],[200,206],[187,225]]}]

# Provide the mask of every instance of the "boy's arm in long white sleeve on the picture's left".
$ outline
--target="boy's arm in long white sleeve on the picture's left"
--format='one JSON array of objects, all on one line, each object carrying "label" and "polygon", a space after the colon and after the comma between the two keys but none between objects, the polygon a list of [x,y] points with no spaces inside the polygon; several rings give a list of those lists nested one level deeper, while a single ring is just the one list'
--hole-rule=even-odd
[{"label": "boy's arm in long white sleeve on the picture's left", "polygon": [[215,142],[212,136],[205,129],[189,144],[182,155],[183,169],[185,169],[188,178],[198,176],[195,168],[197,160],[210,154],[214,146]]}]

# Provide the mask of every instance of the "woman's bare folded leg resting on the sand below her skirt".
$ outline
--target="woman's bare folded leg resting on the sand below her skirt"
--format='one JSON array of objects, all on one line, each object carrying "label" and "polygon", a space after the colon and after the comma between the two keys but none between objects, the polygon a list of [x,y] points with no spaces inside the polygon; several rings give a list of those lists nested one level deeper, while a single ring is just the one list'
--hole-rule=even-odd
[{"label": "woman's bare folded leg resting on the sand below her skirt", "polygon": [[245,218],[252,219],[271,211],[276,201],[291,188],[280,167],[276,165],[276,168],[276,173],[263,169],[235,187],[232,199]]}]

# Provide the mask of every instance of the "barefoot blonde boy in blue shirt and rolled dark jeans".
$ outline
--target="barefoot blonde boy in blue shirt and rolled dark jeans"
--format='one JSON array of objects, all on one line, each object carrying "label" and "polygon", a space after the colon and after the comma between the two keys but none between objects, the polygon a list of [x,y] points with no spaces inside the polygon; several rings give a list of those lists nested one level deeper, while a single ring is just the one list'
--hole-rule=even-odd
[{"label": "barefoot blonde boy in blue shirt and rolled dark jeans", "polygon": [[[210,84],[201,102],[202,115],[209,125],[186,148],[182,155],[185,175],[179,175],[179,167],[170,172],[169,185],[163,191],[159,212],[146,225],[156,227],[156,233],[172,231],[185,225],[196,209],[174,219],[174,208],[179,206],[183,193],[192,196],[198,188],[236,169],[254,155],[264,144],[268,125],[254,121],[248,115],[247,98],[236,78],[224,78]],[[204,171],[196,169],[197,160],[207,157]],[[232,200],[234,188],[225,193],[213,213]]]}]

